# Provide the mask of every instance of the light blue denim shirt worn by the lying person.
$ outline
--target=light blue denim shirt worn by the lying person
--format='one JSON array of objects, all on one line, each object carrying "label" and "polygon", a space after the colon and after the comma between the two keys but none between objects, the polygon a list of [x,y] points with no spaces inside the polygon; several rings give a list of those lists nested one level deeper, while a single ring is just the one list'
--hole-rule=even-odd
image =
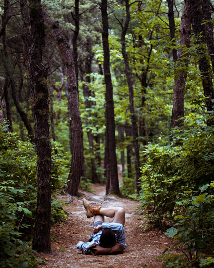
[{"label": "light blue denim shirt worn by the lying person", "polygon": [[[123,225],[121,223],[115,223],[115,222],[103,222],[102,223],[102,229],[104,228],[111,228],[116,233],[116,242],[123,245],[124,249],[126,249],[127,245],[125,243],[125,231],[123,228]],[[80,242],[76,245],[78,249],[83,249],[84,251],[87,251],[87,248],[90,247],[90,245],[96,243],[99,244],[100,241],[100,235],[102,231],[99,231],[98,233],[94,234],[92,237],[91,242]]]}]

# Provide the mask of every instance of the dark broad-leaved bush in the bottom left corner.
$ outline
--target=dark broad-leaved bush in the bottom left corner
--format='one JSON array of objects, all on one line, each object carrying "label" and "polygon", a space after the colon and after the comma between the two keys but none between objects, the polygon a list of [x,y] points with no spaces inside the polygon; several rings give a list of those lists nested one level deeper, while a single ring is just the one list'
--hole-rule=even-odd
[{"label": "dark broad-leaved bush in the bottom left corner", "polygon": [[27,208],[33,201],[16,201],[16,195],[25,194],[25,190],[15,189],[14,181],[0,183],[0,266],[33,267],[37,261],[35,253],[28,243],[22,241],[20,229],[29,225],[22,222],[24,217],[31,217]]}]

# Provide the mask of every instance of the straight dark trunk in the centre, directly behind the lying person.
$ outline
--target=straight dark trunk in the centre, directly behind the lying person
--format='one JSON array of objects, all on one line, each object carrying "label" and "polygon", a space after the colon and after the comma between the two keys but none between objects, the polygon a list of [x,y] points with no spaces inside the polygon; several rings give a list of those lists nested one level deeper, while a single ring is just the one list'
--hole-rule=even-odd
[{"label": "straight dark trunk in the centre, directly behind the lying person", "polygon": [[[114,122],[114,101],[113,101],[113,86],[110,73],[110,52],[108,44],[108,14],[107,0],[101,2],[102,12],[102,45],[104,51],[104,81],[106,84],[106,147],[105,147],[105,168],[106,168],[106,194],[120,194],[118,172],[117,172],[117,157],[116,157],[116,141],[115,141],[115,122]],[[108,188],[109,187],[109,188]]]}]

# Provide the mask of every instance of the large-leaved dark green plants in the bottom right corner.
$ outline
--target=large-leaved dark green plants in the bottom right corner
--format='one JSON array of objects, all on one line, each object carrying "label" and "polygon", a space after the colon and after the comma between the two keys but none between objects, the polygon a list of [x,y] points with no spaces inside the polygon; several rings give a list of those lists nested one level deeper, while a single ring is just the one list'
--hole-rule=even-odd
[{"label": "large-leaved dark green plants in the bottom right corner", "polygon": [[[174,227],[169,228],[165,235],[174,238],[173,249],[182,255],[166,254],[163,260],[167,261],[167,267],[198,266],[202,254],[214,250],[214,201],[213,195],[205,192],[208,186],[203,185],[199,195],[191,190],[177,196],[177,211],[181,214],[175,215]],[[166,249],[164,254],[168,251],[170,249]],[[212,258],[204,260],[200,267],[206,266],[208,261],[211,263]]]}]

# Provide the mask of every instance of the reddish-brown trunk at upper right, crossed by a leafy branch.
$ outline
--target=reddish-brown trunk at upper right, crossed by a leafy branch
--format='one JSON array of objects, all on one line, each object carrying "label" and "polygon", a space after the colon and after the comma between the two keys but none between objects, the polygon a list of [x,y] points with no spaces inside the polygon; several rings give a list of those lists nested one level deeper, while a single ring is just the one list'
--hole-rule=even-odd
[{"label": "reddish-brown trunk at upper right, crossed by a leafy branch", "polygon": [[[189,14],[189,0],[185,1],[183,13],[181,16],[181,25],[180,25],[180,44],[181,46],[189,47],[190,46],[190,33],[191,33],[191,21]],[[183,68],[188,65],[188,53],[184,54],[184,51],[178,52],[178,61],[180,64],[183,64]],[[187,79],[187,74],[185,70],[179,73],[175,70],[175,85],[173,93],[173,109],[172,109],[172,125],[173,127],[182,127],[183,117],[184,117],[184,89]]]}]

